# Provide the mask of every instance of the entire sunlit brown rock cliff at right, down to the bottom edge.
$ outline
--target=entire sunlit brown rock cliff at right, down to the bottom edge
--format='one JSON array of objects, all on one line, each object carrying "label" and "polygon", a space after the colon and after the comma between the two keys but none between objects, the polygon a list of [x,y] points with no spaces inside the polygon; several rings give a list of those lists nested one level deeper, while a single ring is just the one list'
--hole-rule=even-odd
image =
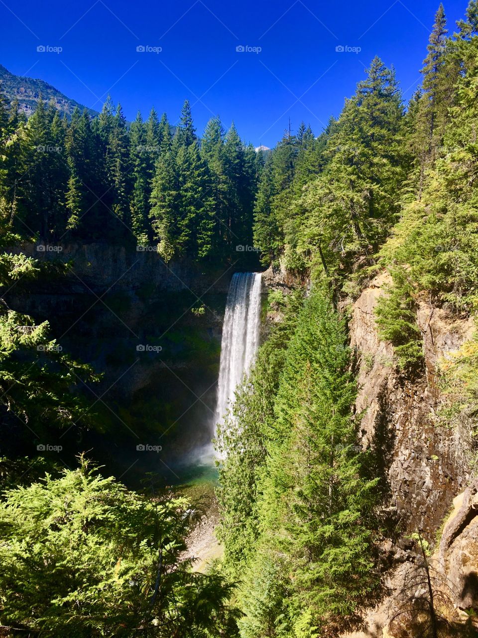
[{"label": "entire sunlit brown rock cliff at right, down to the bottom edge", "polygon": [[407,378],[396,371],[393,346],[380,340],[375,325],[377,299],[388,282],[387,274],[373,279],[348,309],[359,383],[356,412],[363,413],[361,443],[381,458],[388,494],[385,508],[393,523],[392,538],[383,547],[392,565],[385,583],[389,595],[366,612],[363,631],[347,638],[391,636],[387,625],[395,598],[416,559],[407,538],[421,530],[433,544],[454,497],[463,491],[460,507],[444,528],[440,565],[459,593],[458,606],[478,606],[478,484],[467,487],[465,443],[436,419],[442,404],[438,362],[471,338],[474,323],[421,300],[417,322],[423,335],[424,373]]}]

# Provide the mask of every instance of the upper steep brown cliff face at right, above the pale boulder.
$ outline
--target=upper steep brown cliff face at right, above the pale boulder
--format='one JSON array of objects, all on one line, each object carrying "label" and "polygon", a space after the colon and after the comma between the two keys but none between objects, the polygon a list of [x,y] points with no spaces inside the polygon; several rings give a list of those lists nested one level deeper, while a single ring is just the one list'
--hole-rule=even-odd
[{"label": "upper steep brown cliff face at right, above the pale boulder", "polygon": [[424,337],[425,372],[407,378],[396,372],[393,346],[380,341],[374,309],[387,275],[372,281],[352,305],[351,348],[356,354],[363,447],[382,457],[390,506],[403,531],[430,530],[433,537],[453,500],[469,479],[461,450],[449,429],[437,427],[440,405],[437,362],[458,350],[473,323],[451,319],[442,309],[422,302],[418,323]]}]

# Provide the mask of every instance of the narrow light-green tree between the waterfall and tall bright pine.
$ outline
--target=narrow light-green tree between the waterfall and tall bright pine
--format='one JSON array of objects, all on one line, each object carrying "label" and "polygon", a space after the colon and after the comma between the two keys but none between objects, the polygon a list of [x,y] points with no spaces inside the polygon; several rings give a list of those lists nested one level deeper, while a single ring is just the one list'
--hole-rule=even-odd
[{"label": "narrow light-green tree between the waterfall and tall bright pine", "polygon": [[275,438],[274,401],[298,309],[300,295],[287,297],[284,320],[275,326],[259,350],[247,383],[238,388],[233,412],[218,432],[219,464],[217,500],[221,523],[217,536],[224,544],[226,568],[239,579],[259,535],[257,498],[259,474],[264,465],[266,441]]}]

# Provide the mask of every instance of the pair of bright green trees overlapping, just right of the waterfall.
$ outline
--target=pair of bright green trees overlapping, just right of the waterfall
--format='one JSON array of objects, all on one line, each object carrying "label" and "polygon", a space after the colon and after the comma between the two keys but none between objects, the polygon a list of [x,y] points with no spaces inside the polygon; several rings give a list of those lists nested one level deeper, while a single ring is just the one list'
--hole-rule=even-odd
[{"label": "pair of bright green trees overlapping, just right of the waterfall", "polygon": [[220,436],[224,560],[245,572],[251,638],[330,635],[379,580],[377,479],[357,443],[345,325],[318,285],[294,310],[275,366],[268,341]]}]

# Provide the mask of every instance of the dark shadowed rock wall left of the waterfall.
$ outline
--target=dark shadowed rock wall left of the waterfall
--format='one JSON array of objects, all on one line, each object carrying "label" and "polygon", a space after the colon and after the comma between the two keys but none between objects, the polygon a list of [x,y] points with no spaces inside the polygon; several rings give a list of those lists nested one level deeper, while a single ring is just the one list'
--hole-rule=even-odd
[{"label": "dark shadowed rock wall left of the waterfall", "polygon": [[179,457],[210,442],[233,270],[166,264],[155,251],[134,246],[60,248],[21,248],[40,261],[69,262],[70,269],[18,281],[5,293],[9,308],[36,323],[48,320],[64,352],[103,374],[91,389],[105,431],[114,433],[91,442],[103,446],[102,458],[121,457],[127,468],[138,458],[137,443],[161,444],[160,461],[145,454],[134,467],[151,469],[141,465],[148,459],[156,469],[174,468]]}]

